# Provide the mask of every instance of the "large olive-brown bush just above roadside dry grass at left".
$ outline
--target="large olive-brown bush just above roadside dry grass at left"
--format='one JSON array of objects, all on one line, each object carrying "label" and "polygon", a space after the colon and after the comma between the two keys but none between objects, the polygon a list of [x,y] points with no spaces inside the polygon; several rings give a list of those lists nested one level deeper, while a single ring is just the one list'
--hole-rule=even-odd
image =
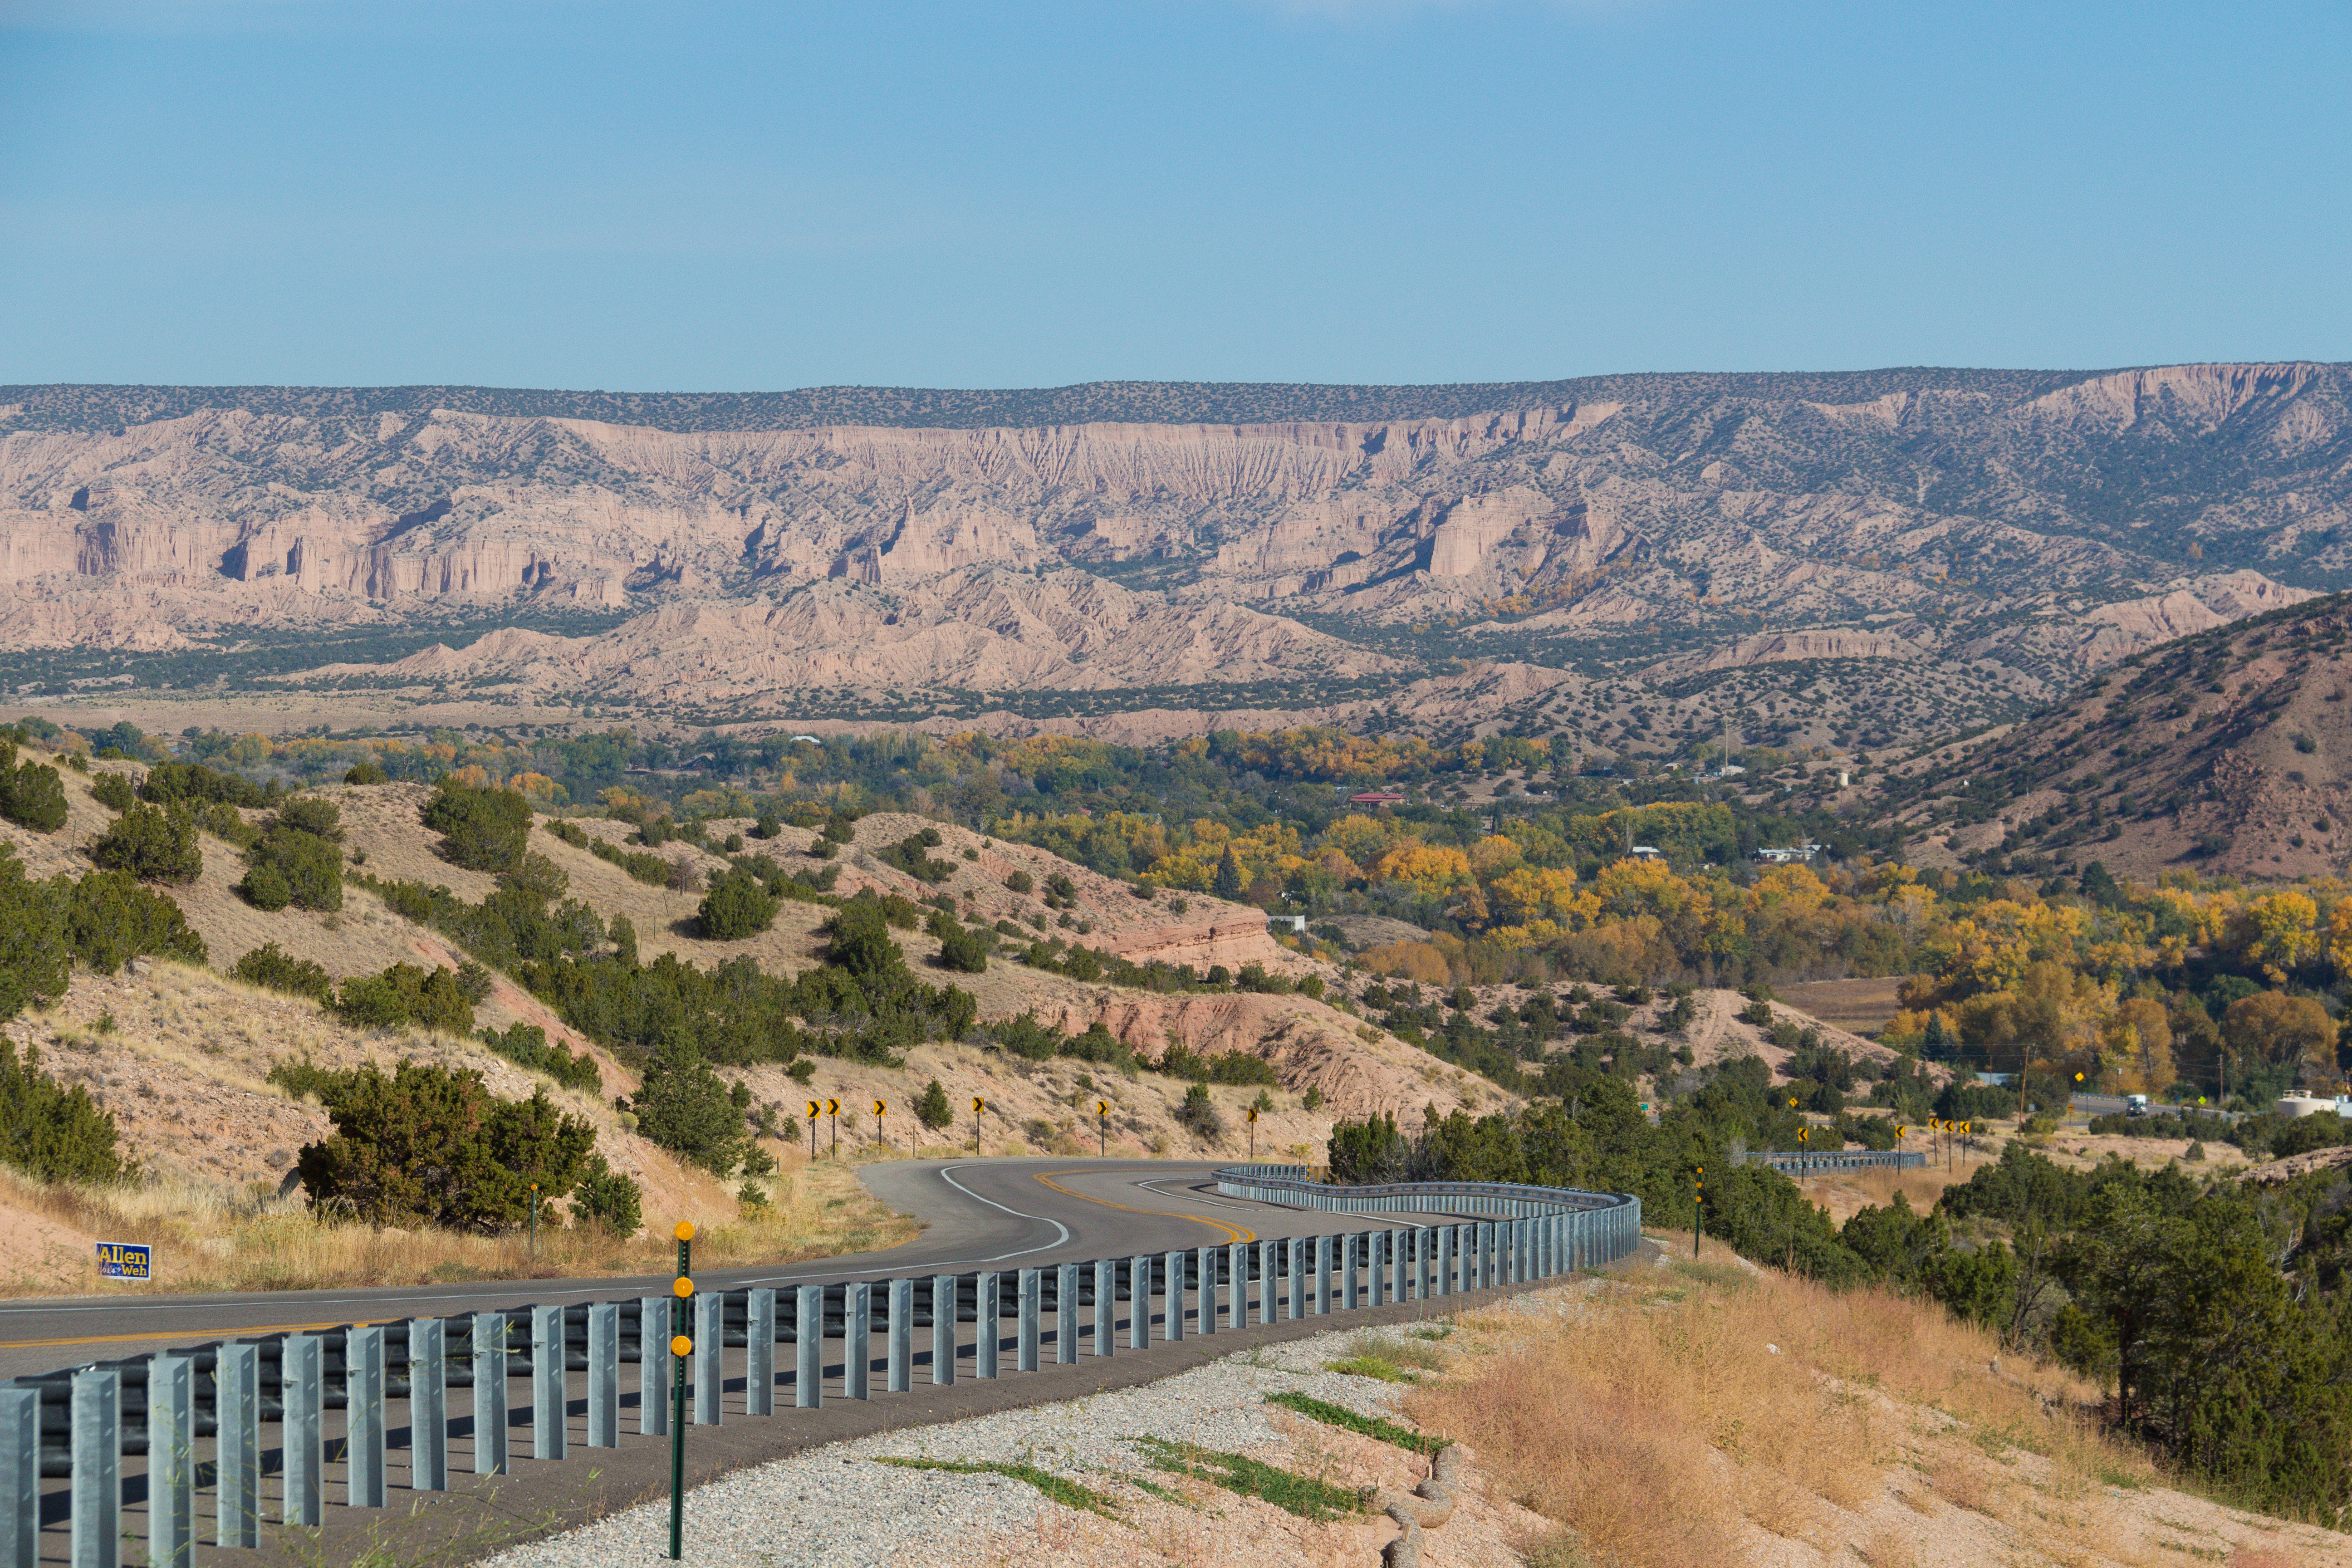
[{"label": "large olive-brown bush just above roadside dry grass at left", "polygon": [[386,1077],[367,1063],[318,1093],[334,1133],[294,1166],[310,1206],[376,1225],[510,1229],[532,1211],[532,1182],[541,1199],[569,1197],[595,1150],[595,1128],[546,1091],[501,1100],[480,1072],[400,1063]]}]

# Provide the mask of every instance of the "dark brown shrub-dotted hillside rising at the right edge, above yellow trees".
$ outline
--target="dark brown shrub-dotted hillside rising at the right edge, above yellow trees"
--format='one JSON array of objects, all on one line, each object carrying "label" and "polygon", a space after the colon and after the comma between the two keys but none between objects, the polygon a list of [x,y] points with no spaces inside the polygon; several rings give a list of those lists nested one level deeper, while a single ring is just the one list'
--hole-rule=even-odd
[{"label": "dark brown shrub-dotted hillside rising at the right edge, above yellow trees", "polygon": [[2126,658],[1997,741],[1898,771],[1889,820],[1922,865],[2338,875],[2352,856],[2347,639],[2352,597],[2336,595]]}]

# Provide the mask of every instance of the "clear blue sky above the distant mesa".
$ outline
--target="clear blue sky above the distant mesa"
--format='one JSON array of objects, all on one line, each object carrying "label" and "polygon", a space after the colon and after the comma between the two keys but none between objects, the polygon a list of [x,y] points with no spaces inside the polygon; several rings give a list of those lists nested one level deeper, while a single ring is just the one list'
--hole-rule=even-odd
[{"label": "clear blue sky above the distant mesa", "polygon": [[0,0],[0,381],[2352,360],[2352,7]]}]

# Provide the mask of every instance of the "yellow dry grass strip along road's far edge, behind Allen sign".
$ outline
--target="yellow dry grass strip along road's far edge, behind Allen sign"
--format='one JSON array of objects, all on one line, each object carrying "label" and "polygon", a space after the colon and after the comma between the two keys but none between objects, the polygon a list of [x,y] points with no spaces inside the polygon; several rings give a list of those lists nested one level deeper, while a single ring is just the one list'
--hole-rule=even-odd
[{"label": "yellow dry grass strip along road's far edge, behind Allen sign", "polygon": [[[849,1166],[800,1166],[767,1180],[771,1201],[731,1225],[706,1225],[696,1255],[717,1267],[797,1262],[913,1239],[915,1222],[875,1201]],[[666,1225],[635,1237],[602,1227],[553,1227],[532,1248],[524,1234],[468,1237],[318,1220],[299,1197],[235,1194],[193,1182],[87,1187],[31,1182],[0,1168],[0,1206],[87,1237],[139,1237],[158,1248],[153,1291],[310,1291],[412,1286],[456,1279],[564,1279],[666,1272],[675,1258]],[[165,1267],[169,1265],[169,1267]],[[101,1288],[87,1248],[75,1276],[47,1291]],[[106,1281],[108,1291],[125,1291]],[[136,1288],[136,1286],[132,1286]]]}]

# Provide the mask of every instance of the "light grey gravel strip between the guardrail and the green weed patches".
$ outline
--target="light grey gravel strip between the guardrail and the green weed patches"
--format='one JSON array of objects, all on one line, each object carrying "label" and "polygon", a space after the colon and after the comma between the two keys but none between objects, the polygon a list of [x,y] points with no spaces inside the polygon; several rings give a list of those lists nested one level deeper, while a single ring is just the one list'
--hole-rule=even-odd
[{"label": "light grey gravel strip between the guardrail and the green weed patches", "polygon": [[[1002,1561],[1002,1547],[1070,1509],[1023,1481],[882,1465],[884,1458],[1033,1465],[1117,1500],[1148,1476],[1136,1439],[1216,1450],[1287,1448],[1265,1396],[1301,1389],[1362,1415],[1395,1415],[1397,1385],[1324,1371],[1378,1328],[1225,1356],[1134,1389],[906,1427],[736,1472],[687,1497],[696,1568],[929,1568]],[[1395,1333],[1385,1338],[1399,1338]],[[1282,1420],[1291,1420],[1287,1413]],[[1122,1495],[1124,1493],[1124,1495]],[[621,1568],[668,1561],[668,1502],[489,1559],[492,1568]]]}]

